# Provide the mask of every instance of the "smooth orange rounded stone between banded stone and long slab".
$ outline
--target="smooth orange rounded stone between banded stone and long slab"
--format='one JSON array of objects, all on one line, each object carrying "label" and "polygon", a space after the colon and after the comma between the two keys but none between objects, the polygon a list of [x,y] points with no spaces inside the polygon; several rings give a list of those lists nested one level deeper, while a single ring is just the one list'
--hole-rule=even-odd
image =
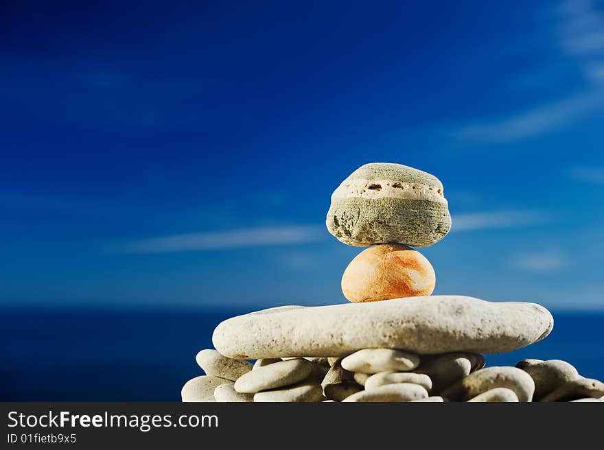
[{"label": "smooth orange rounded stone between banded stone and long slab", "polygon": [[437,279],[430,261],[399,244],[372,246],[360,252],[342,275],[342,292],[353,303],[429,296]]}]

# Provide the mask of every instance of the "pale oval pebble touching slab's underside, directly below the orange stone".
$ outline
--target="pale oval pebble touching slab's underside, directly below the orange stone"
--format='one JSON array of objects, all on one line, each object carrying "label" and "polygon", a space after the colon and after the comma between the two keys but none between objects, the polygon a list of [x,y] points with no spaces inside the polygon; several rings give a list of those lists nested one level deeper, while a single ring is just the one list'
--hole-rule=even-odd
[{"label": "pale oval pebble touching slab's underside, directly below the orange stone", "polygon": [[364,348],[342,359],[341,364],[351,372],[405,372],[417,367],[419,357],[393,348]]}]

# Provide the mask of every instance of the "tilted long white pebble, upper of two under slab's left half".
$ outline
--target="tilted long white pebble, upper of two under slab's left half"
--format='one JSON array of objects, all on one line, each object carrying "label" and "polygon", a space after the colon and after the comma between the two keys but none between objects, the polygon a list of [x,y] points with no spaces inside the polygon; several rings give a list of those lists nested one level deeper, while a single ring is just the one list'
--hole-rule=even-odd
[{"label": "tilted long white pebble, upper of two under slab's left half", "polygon": [[313,363],[303,358],[288,359],[247,372],[235,381],[237,392],[253,394],[262,390],[290,386],[302,381],[313,369]]}]

